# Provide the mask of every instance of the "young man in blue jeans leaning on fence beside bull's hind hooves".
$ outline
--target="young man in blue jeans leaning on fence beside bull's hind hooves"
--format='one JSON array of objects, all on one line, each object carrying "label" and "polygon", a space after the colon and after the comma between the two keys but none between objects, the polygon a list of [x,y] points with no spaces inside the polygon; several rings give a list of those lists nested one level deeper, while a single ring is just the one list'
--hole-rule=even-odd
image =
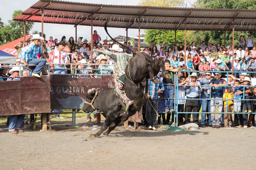
[{"label": "young man in blue jeans leaning on fence beside bull's hind hooves", "polygon": [[[174,69],[170,65],[170,61],[166,60],[165,62],[165,69],[171,74],[171,79],[167,79],[163,77],[163,86],[165,87],[165,90],[163,90],[163,97],[164,98],[174,98],[174,82],[175,77],[173,76],[174,72],[178,72],[178,69]],[[171,113],[174,113],[174,105],[173,105],[173,99],[165,99],[165,112],[167,113],[166,117],[166,123],[169,124]],[[169,113],[169,114],[168,114]],[[172,117],[172,121],[174,121],[174,117]]]}]

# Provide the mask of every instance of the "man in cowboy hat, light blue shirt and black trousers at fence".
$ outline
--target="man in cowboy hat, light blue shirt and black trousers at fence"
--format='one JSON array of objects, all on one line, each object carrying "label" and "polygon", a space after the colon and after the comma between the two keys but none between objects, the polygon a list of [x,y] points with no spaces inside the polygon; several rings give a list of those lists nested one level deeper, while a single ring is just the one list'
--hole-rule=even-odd
[{"label": "man in cowboy hat, light blue shirt and black trousers at fence", "polygon": [[[197,76],[196,72],[193,72],[191,74],[191,79],[187,81],[186,85],[186,96],[187,99],[192,99],[192,100],[186,100],[185,104],[185,112],[198,112],[198,100],[193,100],[193,99],[199,99],[199,93],[202,92],[202,88],[200,87],[201,83],[197,81],[199,77]],[[190,115],[191,114],[186,114],[185,116],[185,122],[190,123]],[[199,114],[193,114],[193,122],[198,124],[198,117]]]}]

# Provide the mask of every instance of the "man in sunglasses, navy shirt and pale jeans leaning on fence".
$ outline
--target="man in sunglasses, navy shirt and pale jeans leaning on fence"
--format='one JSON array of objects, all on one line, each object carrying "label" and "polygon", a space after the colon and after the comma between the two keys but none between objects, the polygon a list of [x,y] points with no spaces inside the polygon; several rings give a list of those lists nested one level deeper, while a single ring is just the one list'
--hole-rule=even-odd
[{"label": "man in sunglasses, navy shirt and pale jeans leaning on fence", "polygon": [[[212,120],[212,128],[220,128],[221,127],[221,116],[222,116],[222,109],[223,109],[223,101],[218,100],[222,99],[223,97],[223,86],[227,85],[227,82],[221,78],[221,73],[216,72],[214,74],[214,78],[210,81],[212,94],[211,94],[211,120]],[[217,99],[217,100],[216,100]],[[217,106],[217,122],[215,121],[215,112]]]}]

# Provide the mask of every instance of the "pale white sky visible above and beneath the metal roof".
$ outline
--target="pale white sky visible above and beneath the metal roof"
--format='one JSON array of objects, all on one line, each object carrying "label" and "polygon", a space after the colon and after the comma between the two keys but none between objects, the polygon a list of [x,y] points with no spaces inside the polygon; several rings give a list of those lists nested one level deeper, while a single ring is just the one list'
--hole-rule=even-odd
[{"label": "pale white sky visible above and beneath the metal roof", "polygon": [[[2,22],[8,24],[8,20],[12,19],[13,11],[15,10],[27,10],[30,6],[38,2],[39,0],[12,0],[10,4],[10,0],[1,0],[0,2],[0,17],[2,19]],[[67,1],[67,0],[65,0]],[[72,2],[81,2],[81,3],[97,3],[97,4],[113,4],[113,5],[138,5],[138,0],[94,0],[94,1],[88,1],[88,0],[68,0]],[[195,0],[192,0],[195,1]],[[191,2],[191,1],[190,1]],[[37,30],[41,32],[41,23],[35,22],[34,27],[32,28],[31,33]],[[104,27],[93,27],[93,30],[97,30],[98,34],[101,36],[101,39],[110,39],[105,30]],[[90,26],[77,26],[77,37],[83,37],[90,39],[90,32],[91,28]],[[116,37],[118,35],[125,35],[126,31],[122,28],[108,28],[108,32],[112,37]],[[143,34],[143,30],[141,30],[141,34]],[[75,28],[73,25],[67,25],[67,24],[50,24],[50,23],[44,23],[44,34],[46,36],[46,40],[49,39],[50,36],[53,36],[53,38],[57,38],[58,40],[61,39],[63,35],[66,36],[66,39],[68,40],[70,36],[74,37],[75,39]],[[138,36],[138,29],[128,29],[128,36]]]}]

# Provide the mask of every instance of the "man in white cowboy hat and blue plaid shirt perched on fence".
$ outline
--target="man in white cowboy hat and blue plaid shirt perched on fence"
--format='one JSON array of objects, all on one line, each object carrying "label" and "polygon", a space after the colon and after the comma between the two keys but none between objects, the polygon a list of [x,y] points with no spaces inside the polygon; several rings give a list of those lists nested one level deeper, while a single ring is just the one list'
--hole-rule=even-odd
[{"label": "man in white cowboy hat and blue plaid shirt perched on fence", "polygon": [[[40,46],[40,40],[43,40],[43,37],[40,37],[39,34],[34,34],[30,40],[33,40],[33,43],[25,47],[25,49],[21,52],[22,60],[25,67],[27,67],[26,69],[32,73],[32,76],[40,78],[40,73],[43,67],[45,66],[46,62],[49,62]],[[41,56],[44,58],[37,58],[38,54],[41,54]],[[34,64],[37,66],[29,66],[29,64]]]}]

